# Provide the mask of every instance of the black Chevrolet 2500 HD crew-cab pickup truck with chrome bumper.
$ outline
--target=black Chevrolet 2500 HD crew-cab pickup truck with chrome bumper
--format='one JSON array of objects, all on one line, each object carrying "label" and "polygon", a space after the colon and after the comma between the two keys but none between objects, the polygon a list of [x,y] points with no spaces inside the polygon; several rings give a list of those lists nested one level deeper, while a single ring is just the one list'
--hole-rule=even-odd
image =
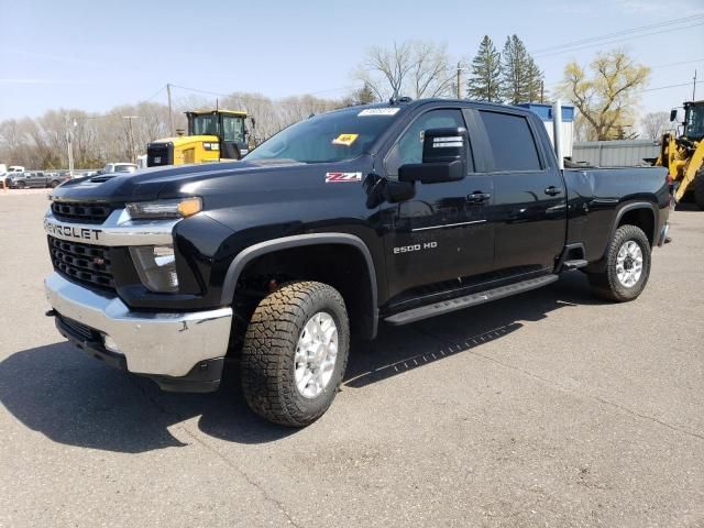
[{"label": "black Chevrolet 2500 HD crew-cab pickup truck with chrome bumper", "polygon": [[392,100],[285,129],[243,161],[100,175],[52,194],[50,315],[166,391],[238,360],[256,413],[305,426],[351,336],[586,273],[638,297],[668,231],[663,168],[561,170],[513,107]]}]

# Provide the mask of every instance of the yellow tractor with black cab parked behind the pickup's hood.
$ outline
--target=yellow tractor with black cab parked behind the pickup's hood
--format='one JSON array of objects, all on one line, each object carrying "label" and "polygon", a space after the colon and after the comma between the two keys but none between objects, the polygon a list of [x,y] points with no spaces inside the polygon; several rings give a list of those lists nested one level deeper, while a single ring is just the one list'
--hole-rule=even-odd
[{"label": "yellow tractor with black cab parked behind the pickup's hood", "polygon": [[[234,161],[249,152],[246,112],[201,110],[186,112],[186,135],[157,140],[146,146],[147,167]],[[254,120],[251,121],[254,125]]]}]

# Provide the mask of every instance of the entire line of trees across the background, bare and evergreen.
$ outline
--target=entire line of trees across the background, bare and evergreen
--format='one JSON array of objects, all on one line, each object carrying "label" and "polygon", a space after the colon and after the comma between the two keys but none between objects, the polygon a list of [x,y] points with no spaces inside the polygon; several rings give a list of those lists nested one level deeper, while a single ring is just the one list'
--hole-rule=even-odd
[{"label": "entire line of trees across the background, bare and evergreen", "polygon": [[[649,74],[648,67],[636,64],[620,50],[597,53],[586,66],[568,63],[554,97],[578,109],[578,141],[636,135],[638,94],[647,86]],[[250,121],[251,140],[260,143],[310,114],[385,101],[393,96],[466,97],[508,105],[549,102],[552,96],[544,89],[543,72],[515,34],[506,37],[501,51],[484,35],[471,61],[455,62],[447,45],[432,41],[371,47],[351,76],[360,88],[339,98],[304,95],[276,100],[238,91],[217,99],[182,97],[174,108],[175,128],[186,128],[186,110],[216,106],[244,110],[255,120]],[[668,125],[662,112],[656,112],[644,117],[640,128],[646,135],[658,138]],[[118,106],[101,114],[80,109],[50,110],[34,119],[0,122],[0,162],[65,168],[70,138],[75,167],[96,168],[108,162],[129,161],[144,153],[148,142],[169,135],[169,110],[160,102]]]}]

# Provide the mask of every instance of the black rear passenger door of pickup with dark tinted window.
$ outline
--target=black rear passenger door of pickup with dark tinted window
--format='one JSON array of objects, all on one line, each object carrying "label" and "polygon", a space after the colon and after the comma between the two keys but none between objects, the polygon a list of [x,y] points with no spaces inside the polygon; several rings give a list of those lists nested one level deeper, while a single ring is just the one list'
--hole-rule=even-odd
[{"label": "black rear passenger door of pickup with dark tinted window", "polygon": [[510,109],[479,110],[479,118],[494,186],[494,268],[551,271],[564,246],[566,189],[554,160],[537,141],[544,132]]}]

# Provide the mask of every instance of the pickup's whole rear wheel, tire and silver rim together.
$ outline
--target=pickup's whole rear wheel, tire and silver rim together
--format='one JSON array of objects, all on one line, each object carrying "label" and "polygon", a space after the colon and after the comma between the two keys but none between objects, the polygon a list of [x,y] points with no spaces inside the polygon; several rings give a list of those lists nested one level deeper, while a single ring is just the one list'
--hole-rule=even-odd
[{"label": "pickup's whole rear wheel, tire and silver rim together", "polygon": [[607,300],[625,302],[637,298],[650,276],[650,242],[636,226],[622,226],[606,251],[606,267],[590,273],[594,293]]}]

